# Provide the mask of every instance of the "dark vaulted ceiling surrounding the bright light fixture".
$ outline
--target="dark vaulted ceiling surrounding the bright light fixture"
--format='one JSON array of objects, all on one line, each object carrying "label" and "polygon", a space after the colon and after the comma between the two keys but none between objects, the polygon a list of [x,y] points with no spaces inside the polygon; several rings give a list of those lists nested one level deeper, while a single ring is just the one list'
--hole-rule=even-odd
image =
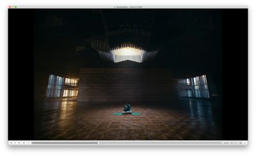
[{"label": "dark vaulted ceiling surrounding the bright light fixture", "polygon": [[35,32],[38,55],[56,52],[67,64],[73,56],[83,66],[118,66],[111,50],[129,46],[147,52],[136,66],[172,67],[179,75],[221,66],[221,10],[36,10]]}]

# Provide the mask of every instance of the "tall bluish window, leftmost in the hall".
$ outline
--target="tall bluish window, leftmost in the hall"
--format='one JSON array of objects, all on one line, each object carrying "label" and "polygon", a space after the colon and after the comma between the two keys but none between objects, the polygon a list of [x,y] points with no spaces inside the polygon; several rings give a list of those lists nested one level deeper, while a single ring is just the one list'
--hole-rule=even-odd
[{"label": "tall bluish window, leftmost in the hall", "polygon": [[64,85],[64,78],[50,74],[46,97],[61,97]]}]

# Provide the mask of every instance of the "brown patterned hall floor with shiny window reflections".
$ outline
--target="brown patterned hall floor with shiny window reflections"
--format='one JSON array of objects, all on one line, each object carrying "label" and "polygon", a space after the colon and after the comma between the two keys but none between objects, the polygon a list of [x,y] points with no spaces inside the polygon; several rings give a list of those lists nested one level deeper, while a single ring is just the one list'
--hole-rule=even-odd
[{"label": "brown patterned hall floor with shiny window reflections", "polygon": [[140,115],[113,115],[122,104],[47,101],[35,113],[35,139],[221,139],[220,110],[214,106],[180,99],[132,104]]}]

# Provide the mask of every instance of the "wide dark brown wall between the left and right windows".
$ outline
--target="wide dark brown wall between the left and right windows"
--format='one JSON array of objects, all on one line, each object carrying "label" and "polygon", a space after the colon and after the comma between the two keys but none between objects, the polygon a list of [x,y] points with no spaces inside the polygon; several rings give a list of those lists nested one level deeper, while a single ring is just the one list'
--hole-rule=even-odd
[{"label": "wide dark brown wall between the left and right windows", "polygon": [[81,68],[77,101],[172,101],[174,80],[170,69]]}]

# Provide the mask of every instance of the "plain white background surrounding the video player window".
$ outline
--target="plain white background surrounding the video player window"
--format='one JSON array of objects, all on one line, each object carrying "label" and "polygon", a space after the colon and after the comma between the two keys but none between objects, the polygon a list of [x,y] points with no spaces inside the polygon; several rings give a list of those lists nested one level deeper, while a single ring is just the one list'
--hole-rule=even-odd
[{"label": "plain white background surrounding the video player window", "polygon": [[[160,5],[248,6],[249,8],[249,142],[247,146],[9,146],[7,142],[8,5]],[[254,28],[254,29],[253,29]],[[0,155],[256,155],[256,1],[254,0],[0,0]],[[254,91],[254,92],[253,92]],[[254,119],[254,120],[253,120]],[[20,127],[26,128],[26,127]]]}]

